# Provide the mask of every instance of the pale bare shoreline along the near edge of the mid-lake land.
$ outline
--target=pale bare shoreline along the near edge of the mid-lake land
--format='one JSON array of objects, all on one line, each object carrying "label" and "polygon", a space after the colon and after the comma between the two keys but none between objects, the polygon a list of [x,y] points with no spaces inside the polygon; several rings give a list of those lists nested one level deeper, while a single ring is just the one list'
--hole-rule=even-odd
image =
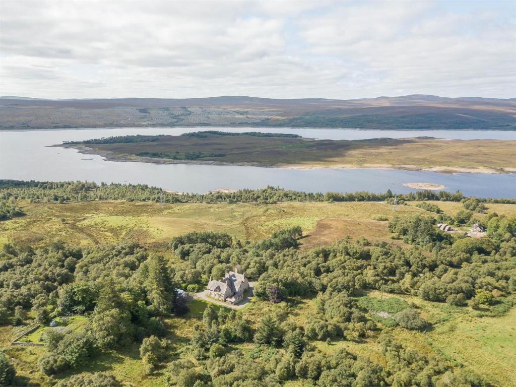
[{"label": "pale bare shoreline along the near edge of the mid-lake land", "polygon": [[82,154],[92,154],[103,157],[106,161],[112,162],[125,162],[125,163],[150,163],[157,165],[215,165],[215,166],[240,166],[240,167],[261,167],[261,168],[282,168],[282,169],[399,169],[408,171],[429,171],[437,173],[496,173],[496,174],[511,174],[516,173],[516,168],[489,168],[489,167],[422,167],[417,165],[390,165],[390,164],[334,164],[334,165],[304,165],[304,164],[274,164],[267,165],[257,162],[249,163],[228,163],[228,162],[215,162],[215,161],[202,161],[202,160],[173,160],[164,158],[153,158],[136,156],[131,154],[118,154],[111,151],[104,151],[98,149],[89,148],[83,144],[55,144],[49,146],[49,148],[67,148],[76,149]]}]

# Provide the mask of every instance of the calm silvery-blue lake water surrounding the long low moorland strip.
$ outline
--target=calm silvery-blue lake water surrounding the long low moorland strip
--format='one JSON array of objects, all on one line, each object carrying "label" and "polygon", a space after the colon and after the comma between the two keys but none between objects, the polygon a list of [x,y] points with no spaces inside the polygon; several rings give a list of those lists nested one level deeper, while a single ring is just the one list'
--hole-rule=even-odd
[{"label": "calm silvery-blue lake water surrounding the long low moorland strip", "polygon": [[[445,190],[461,190],[468,196],[516,198],[516,174],[456,173],[378,169],[281,169],[213,165],[155,165],[109,162],[98,155],[74,149],[48,148],[62,141],[131,134],[171,134],[208,130],[206,127],[101,128],[82,130],[0,132],[0,179],[141,183],[180,192],[207,192],[216,188],[263,188],[280,186],[312,192],[367,190],[406,193],[402,183],[443,184]],[[227,132],[260,131],[296,133],[320,139],[432,136],[449,139],[516,140],[508,131],[368,131],[312,128],[216,128]]]}]

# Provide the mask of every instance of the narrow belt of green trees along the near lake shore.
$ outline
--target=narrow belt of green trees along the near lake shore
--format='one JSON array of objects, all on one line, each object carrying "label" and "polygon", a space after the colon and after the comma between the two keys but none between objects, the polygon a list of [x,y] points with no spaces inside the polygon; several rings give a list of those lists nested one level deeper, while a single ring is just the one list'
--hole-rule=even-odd
[{"label": "narrow belt of green trees along the near lake shore", "polygon": [[[145,184],[118,184],[94,182],[37,182],[0,180],[0,200],[30,200],[33,202],[75,202],[89,200],[126,200],[151,201],[164,203],[260,203],[274,204],[289,201],[316,201],[316,202],[346,202],[346,201],[386,201],[394,202],[394,193],[387,190],[384,193],[367,191],[359,192],[302,192],[279,187],[267,186],[261,189],[239,189],[235,192],[208,192],[208,193],[173,193],[159,187]],[[460,191],[433,192],[430,190],[416,191],[396,195],[397,202],[405,201],[454,201],[484,203],[516,204],[515,199],[467,198]],[[475,204],[472,204],[475,205]],[[433,208],[433,207],[432,207]],[[477,211],[479,212],[479,211]]]}]

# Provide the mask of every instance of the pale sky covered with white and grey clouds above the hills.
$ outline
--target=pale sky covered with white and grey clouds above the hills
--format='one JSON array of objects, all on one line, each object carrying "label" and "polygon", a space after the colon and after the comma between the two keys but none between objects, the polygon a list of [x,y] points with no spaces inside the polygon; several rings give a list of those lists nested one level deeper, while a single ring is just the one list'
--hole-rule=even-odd
[{"label": "pale sky covered with white and grey clouds above the hills", "polygon": [[511,98],[516,2],[0,0],[0,94]]}]

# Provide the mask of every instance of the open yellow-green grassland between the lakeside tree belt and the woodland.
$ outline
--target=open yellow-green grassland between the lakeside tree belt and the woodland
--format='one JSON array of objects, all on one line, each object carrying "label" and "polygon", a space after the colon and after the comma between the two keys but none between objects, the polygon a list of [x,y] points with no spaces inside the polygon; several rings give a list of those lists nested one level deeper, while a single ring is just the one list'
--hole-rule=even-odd
[{"label": "open yellow-green grassland between the lakeside tree belt and the woodland", "polygon": [[[285,202],[278,204],[226,204],[91,201],[66,204],[27,203],[28,214],[0,222],[0,244],[30,243],[46,245],[60,239],[74,245],[105,241],[134,240],[148,245],[162,243],[190,231],[222,231],[249,240],[268,237],[283,228],[299,225],[305,237],[303,247],[331,244],[349,235],[391,243],[388,221],[373,220],[376,215],[394,216],[435,213],[415,207],[417,202],[392,206],[382,202]],[[445,213],[455,215],[462,203],[433,201]],[[516,215],[516,205],[487,204],[487,214]]]}]

